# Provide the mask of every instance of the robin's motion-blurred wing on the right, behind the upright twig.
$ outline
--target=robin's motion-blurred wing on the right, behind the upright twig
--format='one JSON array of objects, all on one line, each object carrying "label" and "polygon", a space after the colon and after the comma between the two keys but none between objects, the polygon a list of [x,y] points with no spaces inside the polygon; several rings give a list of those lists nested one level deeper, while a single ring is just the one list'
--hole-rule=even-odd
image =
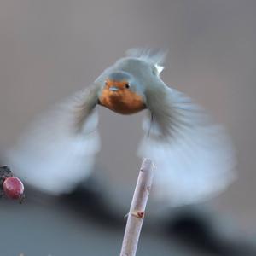
[{"label": "robin's motion-blurred wing on the right, behind the upright twig", "polygon": [[204,201],[235,178],[230,139],[201,107],[164,87],[148,96],[150,116],[139,154],[154,161],[158,200],[172,206]]}]

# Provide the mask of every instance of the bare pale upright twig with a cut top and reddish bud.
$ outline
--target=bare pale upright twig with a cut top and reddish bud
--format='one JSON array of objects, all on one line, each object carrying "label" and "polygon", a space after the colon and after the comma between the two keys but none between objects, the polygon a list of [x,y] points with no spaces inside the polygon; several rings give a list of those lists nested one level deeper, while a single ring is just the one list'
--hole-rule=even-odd
[{"label": "bare pale upright twig with a cut top and reddish bud", "polygon": [[136,254],[137,242],[143,226],[143,218],[148,201],[148,194],[152,185],[153,172],[154,165],[151,160],[144,159],[137,178],[136,189],[131,201],[120,256],[134,256]]}]

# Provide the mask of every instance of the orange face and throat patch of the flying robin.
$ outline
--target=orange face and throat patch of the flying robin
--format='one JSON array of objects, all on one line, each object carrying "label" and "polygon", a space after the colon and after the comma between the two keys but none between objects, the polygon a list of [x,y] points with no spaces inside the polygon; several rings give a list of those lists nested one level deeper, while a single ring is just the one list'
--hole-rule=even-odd
[{"label": "orange face and throat patch of the flying robin", "polygon": [[125,80],[113,81],[108,79],[99,101],[102,106],[122,114],[137,113],[146,108],[143,97],[131,91]]}]

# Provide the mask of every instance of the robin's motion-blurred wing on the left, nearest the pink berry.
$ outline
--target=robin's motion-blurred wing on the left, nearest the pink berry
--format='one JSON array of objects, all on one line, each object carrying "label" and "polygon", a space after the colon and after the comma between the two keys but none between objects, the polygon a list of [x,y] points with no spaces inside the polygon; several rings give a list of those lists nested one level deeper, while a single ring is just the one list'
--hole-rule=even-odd
[{"label": "robin's motion-blurred wing on the left, nearest the pink berry", "polygon": [[15,175],[50,194],[66,193],[88,177],[99,149],[96,85],[40,116],[7,162]]}]

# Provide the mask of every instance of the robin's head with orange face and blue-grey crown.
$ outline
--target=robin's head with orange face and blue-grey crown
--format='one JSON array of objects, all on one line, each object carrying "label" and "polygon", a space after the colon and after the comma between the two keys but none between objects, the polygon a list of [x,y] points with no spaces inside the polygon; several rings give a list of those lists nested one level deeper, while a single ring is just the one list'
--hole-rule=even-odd
[{"label": "robin's head with orange face and blue-grey crown", "polygon": [[140,86],[129,73],[123,71],[108,74],[99,103],[117,113],[137,113],[145,108]]}]

